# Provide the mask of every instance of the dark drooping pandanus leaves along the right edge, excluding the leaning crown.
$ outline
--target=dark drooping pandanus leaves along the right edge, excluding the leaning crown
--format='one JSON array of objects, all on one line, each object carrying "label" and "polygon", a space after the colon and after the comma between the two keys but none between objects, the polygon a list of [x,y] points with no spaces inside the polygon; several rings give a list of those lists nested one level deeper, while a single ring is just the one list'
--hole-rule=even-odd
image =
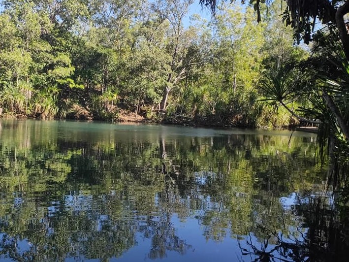
[{"label": "dark drooping pandanus leaves along the right edge, excluding the leaning crown", "polygon": [[[322,117],[320,143],[328,138],[329,181],[334,188],[341,188],[349,186],[349,62],[342,51],[329,58],[329,63],[337,67],[336,75],[319,74],[319,95],[311,101]],[[320,149],[323,148],[321,145]]]}]

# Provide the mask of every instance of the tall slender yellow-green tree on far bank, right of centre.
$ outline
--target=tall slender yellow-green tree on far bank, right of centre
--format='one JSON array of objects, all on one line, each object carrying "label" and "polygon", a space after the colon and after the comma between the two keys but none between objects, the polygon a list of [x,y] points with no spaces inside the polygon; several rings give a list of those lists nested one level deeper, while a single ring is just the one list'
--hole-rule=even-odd
[{"label": "tall slender yellow-green tree on far bank, right of centre", "polygon": [[[259,105],[255,102],[256,83],[263,69],[265,23],[257,23],[253,9],[239,11],[225,7],[217,13],[217,34],[220,41],[218,69],[224,76],[226,94],[225,118],[234,124],[256,124]],[[229,116],[230,115],[230,116]]]}]

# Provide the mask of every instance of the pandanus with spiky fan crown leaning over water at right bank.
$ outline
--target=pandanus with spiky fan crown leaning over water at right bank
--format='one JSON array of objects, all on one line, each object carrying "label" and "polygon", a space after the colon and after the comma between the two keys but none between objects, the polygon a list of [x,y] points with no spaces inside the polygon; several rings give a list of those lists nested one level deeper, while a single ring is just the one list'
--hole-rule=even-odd
[{"label": "pandanus with spiky fan crown leaning over water at right bank", "polygon": [[[307,81],[306,71],[288,67],[266,71],[259,89],[264,96],[262,100],[284,106],[300,121],[317,124],[319,155],[322,160],[329,155],[328,185],[336,189],[349,185],[349,62],[341,52],[328,58],[327,63],[337,72],[317,69],[313,77],[317,81],[312,82]],[[289,108],[298,98],[306,99],[308,106],[297,111],[313,120]]]}]

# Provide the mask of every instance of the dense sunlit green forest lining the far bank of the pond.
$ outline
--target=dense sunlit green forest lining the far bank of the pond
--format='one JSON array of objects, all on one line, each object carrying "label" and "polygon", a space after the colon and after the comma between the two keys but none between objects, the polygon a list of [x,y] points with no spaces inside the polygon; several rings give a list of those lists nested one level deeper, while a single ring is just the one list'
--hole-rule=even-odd
[{"label": "dense sunlit green forest lining the far bank of the pond", "polygon": [[193,2],[2,1],[1,116],[118,121],[127,112],[251,127],[299,120],[263,91],[275,72],[287,71],[286,88],[303,84],[297,65],[312,54],[294,45],[282,1],[261,10],[259,23],[253,6],[222,3],[203,19],[190,15]]}]

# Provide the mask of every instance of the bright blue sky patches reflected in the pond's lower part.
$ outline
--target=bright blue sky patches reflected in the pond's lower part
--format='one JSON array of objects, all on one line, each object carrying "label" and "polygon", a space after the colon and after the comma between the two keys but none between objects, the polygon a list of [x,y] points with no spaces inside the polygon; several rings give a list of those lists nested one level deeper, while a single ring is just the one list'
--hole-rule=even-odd
[{"label": "bright blue sky patches reflected in the pond's lower part", "polygon": [[[202,176],[199,176],[202,177]],[[115,194],[115,192],[114,192]],[[113,192],[111,192],[113,195]],[[94,201],[96,198],[101,200],[105,196],[94,197],[92,195],[66,195],[64,196],[64,206],[66,210],[71,212],[74,211],[88,211],[88,206],[94,206]],[[105,199],[104,199],[105,200]],[[157,205],[158,197],[155,197],[155,202]],[[297,204],[297,195],[296,193],[290,194],[288,197],[281,197],[280,201],[285,210],[291,210],[292,206]],[[207,210],[215,210],[219,208],[219,204],[212,202],[211,197],[205,198],[204,208]],[[49,215],[54,215],[57,212],[57,206],[60,205],[60,201],[52,201],[52,206],[48,207]],[[200,220],[200,214],[204,214],[204,210],[196,210],[192,216],[185,218],[184,220],[179,218],[178,214],[171,214],[170,223],[175,229],[175,234],[179,239],[184,239],[187,249],[185,250],[186,261],[220,261],[220,262],[231,262],[231,261],[250,261],[258,257],[254,255],[249,255],[248,257],[243,256],[241,249],[238,245],[238,240],[236,236],[232,236],[229,233],[228,229],[224,229],[225,233],[222,235],[220,241],[214,241],[212,239],[206,239],[203,235],[205,231],[205,226],[202,225]],[[156,215],[156,214],[154,214]],[[158,214],[159,215],[159,214]],[[154,223],[160,222],[160,217],[158,216],[138,216],[134,215],[134,219],[137,222],[138,230],[141,228],[148,228],[149,223],[147,221],[152,221]],[[199,220],[198,220],[199,219]],[[105,225],[111,225],[112,218],[107,214],[99,214],[94,219],[94,227],[92,230],[95,232],[100,232],[102,230],[118,230],[116,228],[105,229]],[[227,225],[229,227],[229,225]],[[308,229],[303,229],[303,233],[306,234]],[[290,232],[296,232],[297,228],[289,228]],[[48,234],[52,233],[52,229],[48,228]],[[285,243],[294,243],[295,237],[287,237],[279,232],[278,236]],[[251,252],[253,253],[252,246],[256,247],[259,250],[265,248],[265,252],[271,252],[275,249],[275,244],[269,244],[267,247],[263,247],[262,243],[254,236],[253,233],[250,235],[241,235],[238,236],[240,239],[241,248],[244,249],[244,253]],[[136,245],[127,250],[120,258],[111,258],[110,261],[152,261],[149,257],[149,250],[152,248],[152,240],[149,237],[145,237],[143,233],[136,233]],[[298,240],[302,240],[301,237],[298,237]],[[247,244],[247,241],[251,245]],[[29,251],[31,245],[26,239],[19,241],[18,245],[20,249],[25,252]],[[280,258],[280,255],[276,250],[272,252],[276,259]],[[177,262],[183,260],[183,255],[179,252],[173,250],[166,250],[166,262]],[[98,261],[95,259],[87,259],[83,254],[78,254],[75,257],[66,258],[65,261]]]}]

